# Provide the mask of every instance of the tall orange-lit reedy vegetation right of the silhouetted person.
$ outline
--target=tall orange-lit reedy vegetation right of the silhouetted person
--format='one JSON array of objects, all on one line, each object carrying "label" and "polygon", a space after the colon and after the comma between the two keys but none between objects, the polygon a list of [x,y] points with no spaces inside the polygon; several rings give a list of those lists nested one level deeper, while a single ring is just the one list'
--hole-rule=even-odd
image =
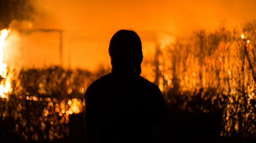
[{"label": "tall orange-lit reedy vegetation right of the silhouetted person", "polygon": [[170,112],[220,112],[220,136],[255,137],[255,29],[255,21],[233,30],[223,24],[159,50],[158,83]]}]

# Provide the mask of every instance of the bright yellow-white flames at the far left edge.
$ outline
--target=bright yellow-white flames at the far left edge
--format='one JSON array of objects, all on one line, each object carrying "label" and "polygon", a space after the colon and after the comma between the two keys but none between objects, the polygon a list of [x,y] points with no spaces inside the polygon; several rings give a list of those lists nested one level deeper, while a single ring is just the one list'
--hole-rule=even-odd
[{"label": "bright yellow-white flames at the far left edge", "polygon": [[[11,30],[2,30],[0,32],[0,75],[3,78],[0,83],[0,97],[8,99],[8,94],[12,92],[11,80],[13,79],[13,68],[10,68],[9,72],[7,64],[3,63],[4,53],[3,48],[5,46],[5,39]],[[7,74],[8,72],[8,74]]]}]

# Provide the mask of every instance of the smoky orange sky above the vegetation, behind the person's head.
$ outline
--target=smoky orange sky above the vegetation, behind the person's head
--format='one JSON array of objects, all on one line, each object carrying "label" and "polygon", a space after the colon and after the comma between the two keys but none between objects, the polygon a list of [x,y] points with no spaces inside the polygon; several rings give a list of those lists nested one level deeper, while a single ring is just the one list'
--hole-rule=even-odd
[{"label": "smoky orange sky above the vegetation, behind the person's head", "polygon": [[[70,68],[96,69],[99,64],[110,66],[109,41],[120,29],[131,28],[137,32],[142,40],[143,53],[148,53],[149,48],[156,46],[156,32],[167,33],[170,38],[166,38],[166,35],[157,37],[166,38],[169,43],[174,42],[176,37],[189,37],[198,29],[215,30],[223,21],[231,28],[256,19],[254,0],[31,0],[30,4],[34,9],[32,18],[27,21],[13,20],[10,27],[59,30],[63,32],[62,41],[60,33],[56,32],[16,34],[19,39],[15,36],[13,38],[19,44],[9,46],[9,51],[5,54],[4,61],[9,66],[44,67],[55,64]],[[20,48],[22,51],[17,52]],[[149,55],[154,54],[155,51]],[[10,57],[14,55],[15,58],[11,60]],[[148,59],[153,59],[152,56]]]}]

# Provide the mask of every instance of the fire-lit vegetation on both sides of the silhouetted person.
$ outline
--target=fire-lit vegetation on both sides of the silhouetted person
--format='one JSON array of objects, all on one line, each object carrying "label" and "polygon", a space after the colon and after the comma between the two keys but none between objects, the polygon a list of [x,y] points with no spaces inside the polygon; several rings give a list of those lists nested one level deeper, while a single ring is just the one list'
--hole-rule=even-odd
[{"label": "fire-lit vegetation on both sides of the silhouetted person", "polygon": [[[212,132],[218,136],[213,139],[216,142],[250,142],[255,139],[255,30],[255,21],[232,30],[221,25],[216,31],[198,30],[189,39],[177,39],[177,42],[157,49],[155,83],[161,87],[170,117],[173,117],[166,122],[169,134],[166,142],[179,142],[179,137],[183,137],[183,141],[194,137],[210,142],[215,137],[208,135]],[[69,115],[66,124],[66,117],[53,110],[60,102],[70,107],[68,101],[72,98],[82,102],[84,95],[80,93],[110,70],[99,68],[97,72],[91,72],[58,66],[22,70],[19,78],[13,80],[9,100],[0,98],[0,140],[85,140],[79,138],[84,133],[83,121],[80,121],[80,128],[76,122],[77,117],[82,118],[82,111]],[[70,94],[69,89],[72,90]],[[30,100],[30,97],[37,97],[38,101]],[[54,98],[58,102],[54,103]],[[50,107],[54,108],[48,110],[52,114],[43,117],[49,103],[53,103]],[[51,121],[54,121],[53,125]],[[213,127],[209,123],[221,127],[211,132]],[[197,129],[198,124],[207,130]],[[184,139],[187,136],[191,138]]]}]

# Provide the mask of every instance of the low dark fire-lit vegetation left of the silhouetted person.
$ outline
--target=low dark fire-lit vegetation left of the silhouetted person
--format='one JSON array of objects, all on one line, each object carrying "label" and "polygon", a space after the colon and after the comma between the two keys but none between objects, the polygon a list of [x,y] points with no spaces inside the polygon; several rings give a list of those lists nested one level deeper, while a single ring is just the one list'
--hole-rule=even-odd
[{"label": "low dark fire-lit vegetation left of the silhouetted person", "polygon": [[[68,102],[73,103],[73,100],[82,104],[84,91],[81,87],[87,88],[109,71],[102,66],[95,72],[59,66],[21,70],[19,78],[13,80],[13,92],[9,100],[0,98],[0,139],[6,142],[81,140],[79,137],[73,138],[85,132],[83,125],[81,128],[76,124],[79,120],[75,117],[79,115],[65,116],[63,113],[60,116],[60,111],[56,109],[60,109],[61,104],[65,110],[70,108],[72,104]],[[71,93],[69,89],[72,89]],[[83,106],[79,107],[80,115],[83,114]],[[49,112],[47,116],[46,112]]]}]

